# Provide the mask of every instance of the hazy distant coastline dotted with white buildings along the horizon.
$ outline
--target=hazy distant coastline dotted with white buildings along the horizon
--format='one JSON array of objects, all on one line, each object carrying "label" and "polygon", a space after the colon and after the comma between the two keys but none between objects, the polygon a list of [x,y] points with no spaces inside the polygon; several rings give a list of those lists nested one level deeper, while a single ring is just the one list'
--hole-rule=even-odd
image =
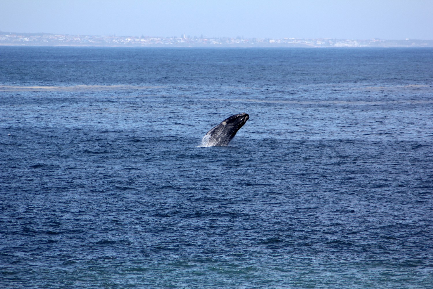
[{"label": "hazy distant coastline dotted with white buildings along the horizon", "polygon": [[1,32],[0,45],[107,47],[433,47],[433,40],[89,36]]}]

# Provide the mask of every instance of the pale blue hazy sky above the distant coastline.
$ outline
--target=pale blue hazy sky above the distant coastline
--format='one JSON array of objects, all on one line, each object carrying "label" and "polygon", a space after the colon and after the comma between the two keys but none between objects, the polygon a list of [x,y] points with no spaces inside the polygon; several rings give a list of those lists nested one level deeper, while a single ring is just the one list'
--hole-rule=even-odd
[{"label": "pale blue hazy sky above the distant coastline", "polygon": [[433,39],[433,0],[0,0],[0,11],[5,32]]}]

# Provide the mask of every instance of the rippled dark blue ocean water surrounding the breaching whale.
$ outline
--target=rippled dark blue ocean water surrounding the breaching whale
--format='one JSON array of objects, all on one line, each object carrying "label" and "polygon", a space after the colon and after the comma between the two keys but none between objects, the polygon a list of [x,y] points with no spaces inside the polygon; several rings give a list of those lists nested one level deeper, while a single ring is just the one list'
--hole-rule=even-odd
[{"label": "rippled dark blue ocean water surrounding the breaching whale", "polygon": [[1,288],[432,288],[433,49],[0,47],[0,192]]}]

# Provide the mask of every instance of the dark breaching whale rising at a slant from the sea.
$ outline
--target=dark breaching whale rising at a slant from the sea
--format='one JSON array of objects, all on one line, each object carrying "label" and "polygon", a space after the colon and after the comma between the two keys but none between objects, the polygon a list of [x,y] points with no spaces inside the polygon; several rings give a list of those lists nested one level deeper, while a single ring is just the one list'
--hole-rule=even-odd
[{"label": "dark breaching whale rising at a slant from the sea", "polygon": [[238,130],[249,119],[246,113],[235,114],[209,130],[203,137],[202,146],[227,146]]}]

